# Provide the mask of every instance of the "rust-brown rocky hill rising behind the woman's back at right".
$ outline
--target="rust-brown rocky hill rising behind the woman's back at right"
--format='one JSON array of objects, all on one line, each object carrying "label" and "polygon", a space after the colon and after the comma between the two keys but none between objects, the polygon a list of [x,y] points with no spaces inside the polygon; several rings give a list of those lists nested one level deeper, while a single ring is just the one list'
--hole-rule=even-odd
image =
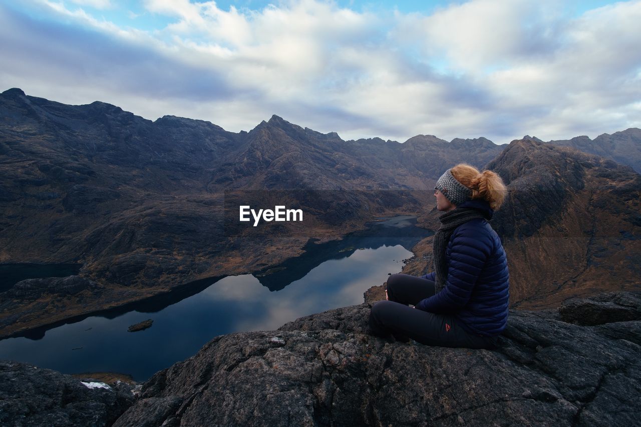
[{"label": "rust-brown rocky hill rising behind the woman's back at right", "polygon": [[[508,187],[492,219],[510,268],[510,303],[550,308],[599,290],[641,289],[641,175],[631,167],[533,138],[488,163]],[[440,212],[424,217],[438,226]],[[431,237],[404,271],[431,265]]]}]

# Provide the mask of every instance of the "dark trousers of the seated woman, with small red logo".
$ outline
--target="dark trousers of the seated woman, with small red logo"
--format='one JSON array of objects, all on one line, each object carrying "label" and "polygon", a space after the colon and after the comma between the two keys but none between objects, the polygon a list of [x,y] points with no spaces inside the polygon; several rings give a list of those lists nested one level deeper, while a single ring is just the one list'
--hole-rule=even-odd
[{"label": "dark trousers of the seated woman, with small red logo", "polygon": [[465,331],[451,314],[433,314],[412,308],[433,296],[434,282],[409,274],[393,274],[387,279],[389,301],[378,301],[369,315],[372,335],[388,340],[413,339],[428,346],[492,348],[495,337],[481,337]]}]

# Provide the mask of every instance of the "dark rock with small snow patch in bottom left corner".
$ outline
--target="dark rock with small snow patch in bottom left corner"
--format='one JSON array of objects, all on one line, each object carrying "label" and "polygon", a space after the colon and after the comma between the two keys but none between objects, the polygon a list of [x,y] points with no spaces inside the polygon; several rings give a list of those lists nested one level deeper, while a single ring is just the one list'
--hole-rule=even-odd
[{"label": "dark rock with small snow patch in bottom left corner", "polygon": [[133,401],[124,383],[111,387],[50,369],[0,362],[3,426],[110,426]]}]

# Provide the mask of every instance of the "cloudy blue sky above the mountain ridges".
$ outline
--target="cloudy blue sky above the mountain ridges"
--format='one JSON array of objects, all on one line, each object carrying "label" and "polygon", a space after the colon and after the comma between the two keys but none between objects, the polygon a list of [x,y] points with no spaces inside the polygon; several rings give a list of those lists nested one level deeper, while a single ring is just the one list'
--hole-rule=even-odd
[{"label": "cloudy blue sky above the mountain ridges", "polygon": [[641,0],[3,0],[0,92],[249,131],[497,144],[641,127]]}]

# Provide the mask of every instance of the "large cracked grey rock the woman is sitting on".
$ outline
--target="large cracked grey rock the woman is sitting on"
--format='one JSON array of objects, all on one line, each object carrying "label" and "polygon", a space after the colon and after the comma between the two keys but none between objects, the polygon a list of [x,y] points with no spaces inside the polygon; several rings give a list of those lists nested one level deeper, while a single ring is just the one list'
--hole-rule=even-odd
[{"label": "large cracked grey rock the woman is sitting on", "polygon": [[[604,298],[640,308],[638,295]],[[579,315],[577,307],[574,301],[562,315],[511,312],[491,351],[370,337],[367,304],[303,317],[278,331],[216,337],[155,374],[115,425],[638,423],[641,321],[563,321]],[[592,314],[602,314],[599,306]]]}]

